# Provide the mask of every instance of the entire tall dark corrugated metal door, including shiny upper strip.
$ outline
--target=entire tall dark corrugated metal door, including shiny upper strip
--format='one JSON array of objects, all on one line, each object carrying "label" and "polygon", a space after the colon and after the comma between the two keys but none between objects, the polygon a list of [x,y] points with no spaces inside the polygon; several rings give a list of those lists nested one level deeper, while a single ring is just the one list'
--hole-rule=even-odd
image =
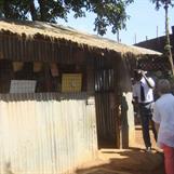
[{"label": "entire tall dark corrugated metal door, including shiny upper strip", "polygon": [[95,59],[95,105],[99,148],[118,148],[118,105],[116,72],[111,61]]}]

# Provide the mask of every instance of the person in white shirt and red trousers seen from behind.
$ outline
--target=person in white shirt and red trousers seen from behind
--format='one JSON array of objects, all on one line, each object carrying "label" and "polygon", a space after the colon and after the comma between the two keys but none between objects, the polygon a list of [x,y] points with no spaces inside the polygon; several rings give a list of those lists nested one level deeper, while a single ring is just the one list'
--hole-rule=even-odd
[{"label": "person in white shirt and red trousers seen from behind", "polygon": [[174,96],[170,93],[169,80],[158,82],[160,98],[153,105],[152,120],[158,131],[158,145],[164,151],[165,172],[174,174]]}]

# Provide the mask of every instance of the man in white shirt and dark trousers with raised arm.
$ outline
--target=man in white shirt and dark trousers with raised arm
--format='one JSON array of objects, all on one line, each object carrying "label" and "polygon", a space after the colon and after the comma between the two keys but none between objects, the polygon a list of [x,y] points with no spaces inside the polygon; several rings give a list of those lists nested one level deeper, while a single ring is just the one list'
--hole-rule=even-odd
[{"label": "man in white shirt and dark trousers with raised arm", "polygon": [[[133,104],[137,105],[139,108],[143,138],[146,146],[146,150],[151,150],[151,142],[149,134],[149,122],[151,121],[151,104],[153,103],[153,88],[155,81],[146,77],[146,72],[140,69],[134,70],[134,79],[136,83],[133,85]],[[155,124],[151,121],[151,129],[157,139],[157,132]]]}]

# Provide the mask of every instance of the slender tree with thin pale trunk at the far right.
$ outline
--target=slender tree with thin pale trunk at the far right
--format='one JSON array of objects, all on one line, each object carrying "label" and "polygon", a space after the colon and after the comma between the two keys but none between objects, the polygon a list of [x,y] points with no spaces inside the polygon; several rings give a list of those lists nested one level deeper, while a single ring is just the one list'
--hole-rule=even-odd
[{"label": "slender tree with thin pale trunk at the far right", "polygon": [[173,57],[172,57],[172,51],[171,51],[171,44],[170,44],[170,32],[169,32],[169,6],[173,6],[173,0],[151,0],[152,3],[156,4],[156,9],[159,10],[161,5],[164,8],[165,11],[165,46],[164,46],[164,54],[168,56],[171,65],[172,75],[174,75],[174,65],[173,65]]}]

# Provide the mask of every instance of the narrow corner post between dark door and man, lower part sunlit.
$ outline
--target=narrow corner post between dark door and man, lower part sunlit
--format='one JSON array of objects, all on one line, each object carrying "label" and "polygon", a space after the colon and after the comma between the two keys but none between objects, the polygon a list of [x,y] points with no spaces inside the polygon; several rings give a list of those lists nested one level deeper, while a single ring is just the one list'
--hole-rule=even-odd
[{"label": "narrow corner post between dark door and man, lower part sunlit", "polygon": [[[120,147],[128,148],[135,143],[134,112],[132,106],[131,88],[132,83],[125,57],[120,57],[120,62],[117,65],[119,65],[117,67],[117,83],[120,105]],[[118,93],[118,91],[116,92]]]}]

